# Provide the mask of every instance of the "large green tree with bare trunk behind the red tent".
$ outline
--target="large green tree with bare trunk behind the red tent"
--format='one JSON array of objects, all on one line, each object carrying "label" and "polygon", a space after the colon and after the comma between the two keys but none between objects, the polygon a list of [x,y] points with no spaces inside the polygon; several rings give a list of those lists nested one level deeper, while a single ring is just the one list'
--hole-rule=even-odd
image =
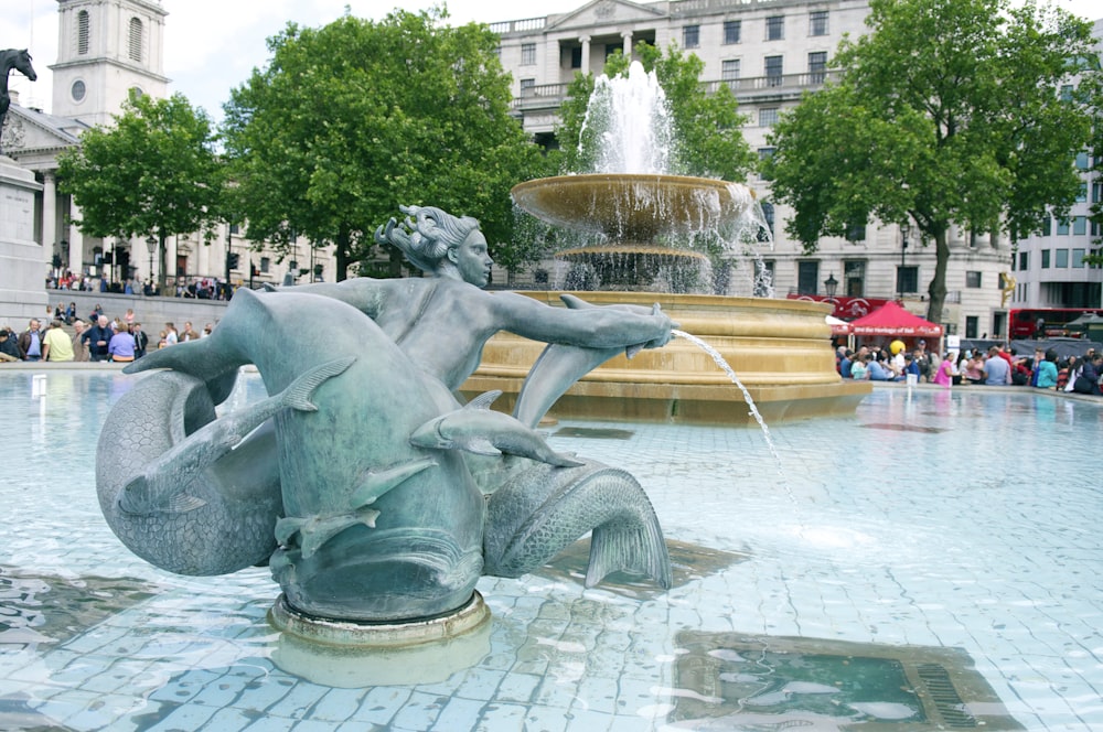
[{"label": "large green tree with bare trunk behind the red tent", "polygon": [[866,23],[837,82],[774,127],[765,173],[810,254],[870,217],[913,220],[935,246],[940,322],[952,224],[1017,240],[1075,200],[1091,115],[1061,85],[1091,25],[1032,0],[870,0]]}]

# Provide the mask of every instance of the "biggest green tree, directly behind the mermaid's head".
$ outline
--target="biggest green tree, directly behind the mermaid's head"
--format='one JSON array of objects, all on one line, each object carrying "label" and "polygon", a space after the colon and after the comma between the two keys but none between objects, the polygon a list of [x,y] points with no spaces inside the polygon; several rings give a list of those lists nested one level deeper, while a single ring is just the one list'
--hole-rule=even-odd
[{"label": "biggest green tree, directly behind the mermaid's head", "polygon": [[[282,252],[296,235],[333,244],[339,279],[371,258],[375,228],[399,204],[475,216],[489,240],[510,240],[510,189],[543,159],[510,116],[497,36],[445,18],[345,15],[269,40],[269,65],[225,106],[234,206],[250,240]],[[494,255],[510,261],[507,245]]]}]

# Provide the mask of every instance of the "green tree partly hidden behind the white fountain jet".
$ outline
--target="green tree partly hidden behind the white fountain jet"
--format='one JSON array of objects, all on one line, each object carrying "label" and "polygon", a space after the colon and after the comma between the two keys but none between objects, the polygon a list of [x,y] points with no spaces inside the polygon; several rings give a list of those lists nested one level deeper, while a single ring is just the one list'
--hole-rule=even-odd
[{"label": "green tree partly hidden behind the white fountain jet", "polygon": [[[700,83],[705,63],[696,55],[683,54],[673,44],[663,54],[640,42],[635,54],[646,71],[655,72],[674,121],[674,164],[670,172],[733,182],[747,180],[756,157],[743,139],[740,128],[747,117],[739,114],[731,89],[721,84],[715,94],[708,94]],[[609,56],[603,73],[610,78],[625,76],[630,65],[631,60],[618,51]],[[591,166],[588,151],[592,146],[583,139],[583,121],[592,92],[592,74],[576,74],[567,90],[556,130],[564,171],[581,172]]]}]

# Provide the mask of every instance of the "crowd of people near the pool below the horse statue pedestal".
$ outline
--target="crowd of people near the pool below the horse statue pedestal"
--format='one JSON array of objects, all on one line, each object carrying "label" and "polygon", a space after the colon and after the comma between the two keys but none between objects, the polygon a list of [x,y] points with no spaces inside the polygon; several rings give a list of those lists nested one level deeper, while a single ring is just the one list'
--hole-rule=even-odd
[{"label": "crowd of people near the pool below the horse statue pedestal", "polygon": [[[58,304],[47,309],[47,317],[32,317],[26,330],[17,333],[10,326],[0,326],[0,364],[13,362],[119,362],[141,358],[150,349],[164,348],[176,343],[211,335],[214,325],[207,323],[196,331],[191,322],[178,331],[165,323],[157,340],[142,330],[132,309],[121,317],[108,317],[99,305],[86,319],[76,315],[76,305]],[[46,323],[43,327],[43,322]],[[67,327],[72,329],[66,330]]]}]

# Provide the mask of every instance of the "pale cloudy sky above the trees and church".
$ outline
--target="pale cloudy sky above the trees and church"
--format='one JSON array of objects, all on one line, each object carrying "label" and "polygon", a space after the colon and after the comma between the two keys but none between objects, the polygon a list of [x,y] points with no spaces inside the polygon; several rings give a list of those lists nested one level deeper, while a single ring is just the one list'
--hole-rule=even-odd
[{"label": "pale cloudy sky above the trees and church", "polygon": [[[1052,0],[1086,20],[1103,18],[1099,0]],[[417,12],[433,0],[161,0],[165,19],[164,71],[170,93],[181,93],[202,107],[215,121],[229,90],[248,79],[254,68],[269,58],[266,40],[288,21],[317,28],[340,18],[347,7],[353,15],[382,20],[396,8]],[[581,8],[587,0],[451,0],[451,22],[493,23],[561,13]],[[28,47],[39,80],[31,83],[18,72],[11,88],[24,107],[50,111],[52,72],[57,58],[57,0],[0,0],[0,49]]]}]

